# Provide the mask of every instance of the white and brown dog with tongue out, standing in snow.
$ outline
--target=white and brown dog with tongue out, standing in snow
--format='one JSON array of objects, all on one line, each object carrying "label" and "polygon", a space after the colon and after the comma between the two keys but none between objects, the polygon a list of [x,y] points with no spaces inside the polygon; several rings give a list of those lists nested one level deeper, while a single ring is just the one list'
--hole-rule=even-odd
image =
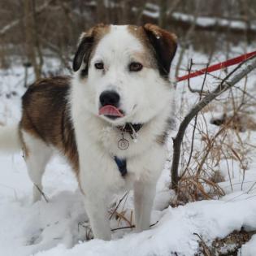
[{"label": "white and brown dog with tongue out, standing in snow", "polygon": [[20,123],[0,130],[0,146],[24,151],[33,202],[57,149],[76,173],[95,238],[111,240],[107,206],[122,190],[134,190],[136,231],[150,228],[171,129],[176,48],[176,35],[154,24],[98,24],[80,36],[72,77],[29,86]]}]

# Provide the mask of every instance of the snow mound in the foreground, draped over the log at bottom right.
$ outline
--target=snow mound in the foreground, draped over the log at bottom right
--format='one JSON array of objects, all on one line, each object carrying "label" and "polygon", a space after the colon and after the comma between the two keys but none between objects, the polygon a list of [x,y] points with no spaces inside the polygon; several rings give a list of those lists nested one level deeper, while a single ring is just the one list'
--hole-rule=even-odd
[{"label": "snow mound in the foreground, draped over the log at bottom right", "polygon": [[[171,252],[194,255],[197,251],[195,233],[214,238],[228,235],[234,229],[241,228],[241,225],[253,225],[256,228],[255,222],[245,220],[256,218],[256,206],[249,207],[246,201],[243,202],[195,202],[173,209],[170,207],[165,210],[157,227],[150,231],[130,234],[117,241],[97,241],[97,244],[96,241],[87,242],[72,249],[59,245],[37,255],[80,256],[85,255],[85,252],[86,255],[170,255]],[[241,214],[244,210],[248,210],[246,216]],[[232,216],[230,213],[234,211],[237,215]]]}]

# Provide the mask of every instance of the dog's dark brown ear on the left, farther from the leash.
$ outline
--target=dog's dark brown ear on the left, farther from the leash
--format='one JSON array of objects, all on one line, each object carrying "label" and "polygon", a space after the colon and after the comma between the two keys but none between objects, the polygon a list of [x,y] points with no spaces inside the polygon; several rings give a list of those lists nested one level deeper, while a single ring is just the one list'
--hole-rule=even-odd
[{"label": "dog's dark brown ear on the left, farther from the leash", "polygon": [[102,28],[106,28],[104,24],[98,24],[93,28],[90,28],[88,32],[82,33],[78,43],[78,49],[76,50],[75,58],[73,60],[74,72],[80,69],[82,62],[85,62],[84,73],[88,72],[89,57],[93,50],[95,41],[97,40],[98,34]]}]

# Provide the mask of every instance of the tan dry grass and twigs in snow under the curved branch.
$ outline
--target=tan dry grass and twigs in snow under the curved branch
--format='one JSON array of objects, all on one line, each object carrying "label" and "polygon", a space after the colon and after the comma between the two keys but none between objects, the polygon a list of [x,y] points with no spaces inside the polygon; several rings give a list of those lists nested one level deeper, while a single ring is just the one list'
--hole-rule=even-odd
[{"label": "tan dry grass and twigs in snow under the curved branch", "polygon": [[171,206],[222,197],[225,193],[219,182],[224,181],[223,169],[228,170],[232,190],[235,163],[240,167],[242,180],[245,179],[249,153],[255,149],[254,142],[249,140],[250,133],[256,130],[256,121],[252,118],[256,103],[251,93],[245,79],[242,89],[232,89],[211,102],[197,116],[196,122],[191,122],[182,145],[180,180]]}]

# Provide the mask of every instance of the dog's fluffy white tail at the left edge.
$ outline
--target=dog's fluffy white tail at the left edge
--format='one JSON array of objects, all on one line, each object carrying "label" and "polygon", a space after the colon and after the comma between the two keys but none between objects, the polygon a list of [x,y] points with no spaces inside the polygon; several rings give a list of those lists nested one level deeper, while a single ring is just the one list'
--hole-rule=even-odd
[{"label": "dog's fluffy white tail at the left edge", "polygon": [[22,148],[19,124],[0,127],[0,152],[15,153]]}]

